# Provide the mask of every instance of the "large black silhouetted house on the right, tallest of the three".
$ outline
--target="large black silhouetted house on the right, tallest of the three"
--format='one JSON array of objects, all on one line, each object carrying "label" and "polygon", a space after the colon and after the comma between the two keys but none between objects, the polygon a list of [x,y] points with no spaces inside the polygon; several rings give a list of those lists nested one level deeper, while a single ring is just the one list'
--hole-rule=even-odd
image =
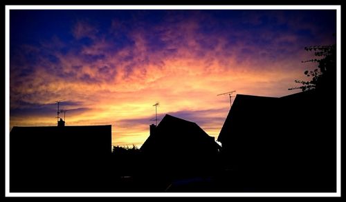
[{"label": "large black silhouetted house on the right, tallest of the three", "polygon": [[258,188],[335,191],[334,100],[317,90],[280,98],[237,94],[218,137],[224,163]]}]

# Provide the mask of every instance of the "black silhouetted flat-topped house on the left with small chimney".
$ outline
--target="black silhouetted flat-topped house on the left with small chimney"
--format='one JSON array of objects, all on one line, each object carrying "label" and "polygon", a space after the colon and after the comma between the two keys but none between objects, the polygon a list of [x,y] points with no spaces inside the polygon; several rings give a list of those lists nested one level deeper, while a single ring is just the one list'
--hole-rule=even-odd
[{"label": "black silhouetted flat-topped house on the left with small chimney", "polygon": [[10,191],[97,191],[110,154],[111,125],[13,127]]}]

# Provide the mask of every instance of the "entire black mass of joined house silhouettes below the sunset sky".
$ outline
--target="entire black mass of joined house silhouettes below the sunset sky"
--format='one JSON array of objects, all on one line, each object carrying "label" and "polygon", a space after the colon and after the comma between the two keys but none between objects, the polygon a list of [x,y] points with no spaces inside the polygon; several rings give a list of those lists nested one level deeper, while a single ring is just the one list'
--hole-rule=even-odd
[{"label": "entire black mass of joined house silhouettes below the sunset sky", "polygon": [[111,125],[14,127],[10,189],[336,192],[332,94],[324,88],[280,98],[237,94],[218,137],[222,147],[196,123],[169,114],[149,125],[140,149],[113,152]]}]

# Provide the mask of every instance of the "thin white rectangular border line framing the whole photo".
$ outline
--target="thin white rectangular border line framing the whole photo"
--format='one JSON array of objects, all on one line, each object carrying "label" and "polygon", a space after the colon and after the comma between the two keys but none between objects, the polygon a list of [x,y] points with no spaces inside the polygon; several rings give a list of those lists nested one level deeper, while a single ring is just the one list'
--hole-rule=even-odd
[{"label": "thin white rectangular border line framing the whole photo", "polygon": [[[10,10],[336,10],[336,192],[277,192],[277,193],[258,193],[258,192],[212,192],[212,193],[198,193],[198,192],[185,192],[185,193],[145,193],[145,192],[113,192],[113,193],[72,193],[72,192],[10,192]],[[341,196],[341,6],[229,6],[229,5],[201,5],[201,6],[176,6],[176,5],[157,5],[157,6],[5,6],[5,32],[6,32],[6,67],[5,67],[5,196],[131,196],[131,197],[147,197],[147,196],[205,196],[205,197],[225,197],[225,196],[247,196],[247,197],[262,197],[262,196],[289,196],[289,197],[340,197]]]}]

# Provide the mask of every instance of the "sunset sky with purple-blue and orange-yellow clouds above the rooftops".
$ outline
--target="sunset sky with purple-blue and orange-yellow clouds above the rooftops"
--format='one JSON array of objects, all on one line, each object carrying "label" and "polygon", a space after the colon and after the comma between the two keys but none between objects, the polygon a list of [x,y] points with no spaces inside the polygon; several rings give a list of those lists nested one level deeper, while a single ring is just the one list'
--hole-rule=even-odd
[{"label": "sunset sky with purple-blue and orange-yellow clouds above the rooftops", "polygon": [[334,33],[335,10],[10,10],[10,128],[57,125],[63,100],[66,125],[112,125],[113,145],[140,147],[158,102],[158,123],[217,139],[230,110],[217,94],[299,92],[316,67],[304,47]]}]

